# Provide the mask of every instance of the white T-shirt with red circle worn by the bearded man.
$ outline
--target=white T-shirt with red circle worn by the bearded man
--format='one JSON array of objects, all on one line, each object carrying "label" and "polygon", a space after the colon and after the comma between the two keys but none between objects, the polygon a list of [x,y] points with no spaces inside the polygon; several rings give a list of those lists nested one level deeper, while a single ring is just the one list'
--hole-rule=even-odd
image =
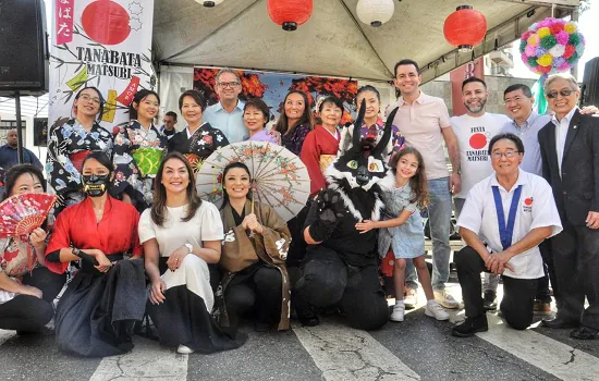
[{"label": "white T-shirt with red circle worn by the bearded man", "polygon": [[454,197],[466,198],[468,190],[476,183],[493,173],[489,157],[489,142],[501,132],[508,122],[510,122],[510,118],[490,112],[478,118],[464,114],[450,119],[460,147],[462,170],[462,189]]}]

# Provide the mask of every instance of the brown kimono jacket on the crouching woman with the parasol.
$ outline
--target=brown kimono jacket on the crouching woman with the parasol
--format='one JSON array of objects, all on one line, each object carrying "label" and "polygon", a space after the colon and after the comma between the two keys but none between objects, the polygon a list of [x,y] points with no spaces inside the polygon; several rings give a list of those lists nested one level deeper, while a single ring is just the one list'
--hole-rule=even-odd
[{"label": "brown kimono jacket on the crouching woman with the parasol", "polygon": [[[248,200],[245,204],[245,214],[249,214],[252,202]],[[222,327],[228,325],[229,315],[224,303],[224,293],[228,286],[243,281],[241,279],[243,275],[236,276],[240,271],[257,262],[262,262],[265,266],[274,267],[281,272],[282,299],[279,330],[288,330],[290,328],[291,287],[285,259],[291,242],[291,233],[285,221],[268,205],[255,202],[254,213],[262,225],[264,233],[256,233],[250,237],[241,225],[235,223],[230,204],[220,211],[224,229],[220,266],[225,270],[225,273],[215,295],[217,298],[217,317]]]}]

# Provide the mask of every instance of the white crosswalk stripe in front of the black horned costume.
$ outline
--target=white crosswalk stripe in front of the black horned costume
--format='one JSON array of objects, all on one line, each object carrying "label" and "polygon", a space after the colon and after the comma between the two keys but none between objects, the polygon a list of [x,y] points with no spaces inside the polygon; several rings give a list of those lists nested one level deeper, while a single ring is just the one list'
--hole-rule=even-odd
[{"label": "white crosswalk stripe in front of the black horned costume", "polygon": [[323,380],[420,379],[365,331],[330,322],[294,328],[293,331],[322,371]]}]

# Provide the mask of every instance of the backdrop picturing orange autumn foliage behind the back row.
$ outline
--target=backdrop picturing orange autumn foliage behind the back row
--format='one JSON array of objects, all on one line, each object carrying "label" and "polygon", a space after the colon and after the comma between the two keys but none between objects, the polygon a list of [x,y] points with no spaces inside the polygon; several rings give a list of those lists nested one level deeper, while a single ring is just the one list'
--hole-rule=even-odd
[{"label": "backdrop picturing orange autumn foliage behind the back row", "polygon": [[[218,69],[209,67],[194,70],[194,88],[204,94],[209,106],[218,102],[213,90],[218,72]],[[353,101],[357,91],[357,81],[252,71],[237,71],[237,73],[242,79],[240,98],[261,98],[270,107],[271,121],[279,119],[283,100],[290,90],[304,91],[308,96],[313,110],[320,97],[334,95],[343,101],[345,109],[341,123],[352,121],[351,113],[355,112]]]}]

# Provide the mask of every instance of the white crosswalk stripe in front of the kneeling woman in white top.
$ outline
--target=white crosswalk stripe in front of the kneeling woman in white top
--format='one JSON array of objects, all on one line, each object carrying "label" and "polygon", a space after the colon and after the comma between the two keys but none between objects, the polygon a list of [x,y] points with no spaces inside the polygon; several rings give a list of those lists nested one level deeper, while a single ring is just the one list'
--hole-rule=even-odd
[{"label": "white crosswalk stripe in front of the kneeling woman in white top", "polygon": [[163,348],[158,342],[134,337],[135,347],[126,355],[105,357],[90,381],[180,381],[187,379],[186,355]]}]

